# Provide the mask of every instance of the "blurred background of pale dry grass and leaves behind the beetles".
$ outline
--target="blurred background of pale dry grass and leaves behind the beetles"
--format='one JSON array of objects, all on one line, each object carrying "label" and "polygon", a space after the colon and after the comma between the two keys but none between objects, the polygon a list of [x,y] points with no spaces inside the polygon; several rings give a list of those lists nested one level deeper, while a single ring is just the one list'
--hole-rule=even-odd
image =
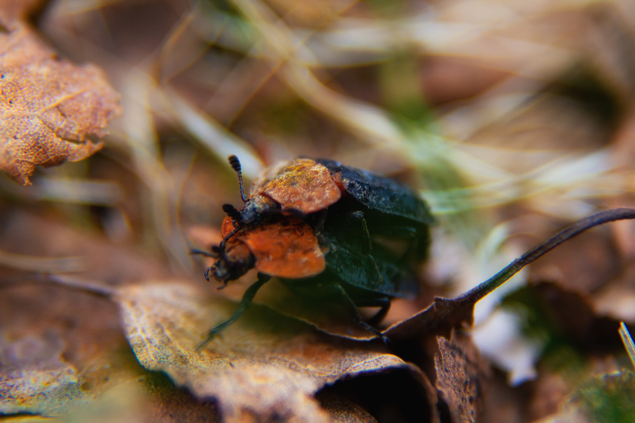
[{"label": "blurred background of pale dry grass and leaves behind the beetles", "polygon": [[[163,257],[174,275],[202,278],[190,246],[240,204],[230,154],[247,183],[327,157],[427,200],[424,293],[385,325],[570,221],[635,206],[629,0],[52,0],[32,22],[105,70],[123,114],[90,159],[39,168],[33,186],[2,176],[5,209]],[[544,392],[523,400],[527,421],[554,412],[580,368],[626,362],[634,234],[630,221],[589,231],[477,305],[474,339],[501,386]]]}]

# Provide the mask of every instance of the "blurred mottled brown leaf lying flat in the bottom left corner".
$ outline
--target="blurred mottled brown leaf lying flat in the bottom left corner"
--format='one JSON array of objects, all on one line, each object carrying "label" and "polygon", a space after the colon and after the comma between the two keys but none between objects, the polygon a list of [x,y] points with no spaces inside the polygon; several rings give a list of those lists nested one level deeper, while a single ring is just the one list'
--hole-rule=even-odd
[{"label": "blurred mottled brown leaf lying flat in the bottom left corner", "polygon": [[2,412],[65,414],[144,372],[113,304],[37,279],[0,287]]}]

